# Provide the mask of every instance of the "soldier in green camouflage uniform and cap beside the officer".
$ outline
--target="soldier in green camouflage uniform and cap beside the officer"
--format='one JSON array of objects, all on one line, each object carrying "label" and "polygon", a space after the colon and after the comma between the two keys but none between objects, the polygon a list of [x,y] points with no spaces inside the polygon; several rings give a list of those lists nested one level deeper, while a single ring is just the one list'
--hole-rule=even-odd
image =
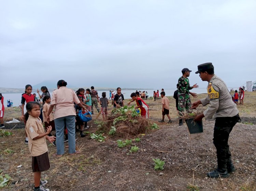
[{"label": "soldier in green camouflage uniform and cap beside the officer", "polygon": [[[178,80],[178,111],[180,113],[180,116],[182,116],[182,113],[191,107],[191,100],[189,94],[191,94],[194,98],[197,98],[197,94],[193,92],[189,92],[190,89],[197,88],[198,85],[194,84],[192,87],[189,85],[188,76],[190,75],[191,70],[188,68],[182,69],[182,76]],[[179,125],[183,125],[183,120],[180,118]]]}]

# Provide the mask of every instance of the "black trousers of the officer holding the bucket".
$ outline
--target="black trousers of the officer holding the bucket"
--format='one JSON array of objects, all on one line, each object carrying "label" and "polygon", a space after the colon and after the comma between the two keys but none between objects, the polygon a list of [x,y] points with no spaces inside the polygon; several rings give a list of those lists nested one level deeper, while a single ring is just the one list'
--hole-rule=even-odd
[{"label": "black trousers of the officer holding the bucket", "polygon": [[237,123],[239,115],[234,117],[217,117],[214,125],[213,144],[217,150],[218,169],[222,172],[227,169],[227,162],[231,161],[228,137]]}]

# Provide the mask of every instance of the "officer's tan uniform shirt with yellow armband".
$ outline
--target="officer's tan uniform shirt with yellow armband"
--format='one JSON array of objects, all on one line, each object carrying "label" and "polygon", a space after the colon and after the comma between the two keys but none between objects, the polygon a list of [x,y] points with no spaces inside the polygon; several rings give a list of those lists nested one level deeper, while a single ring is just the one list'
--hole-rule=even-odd
[{"label": "officer's tan uniform shirt with yellow armband", "polygon": [[205,118],[234,117],[239,113],[226,84],[216,75],[208,83],[207,92],[208,97],[201,99],[203,106],[209,104],[203,112]]}]

